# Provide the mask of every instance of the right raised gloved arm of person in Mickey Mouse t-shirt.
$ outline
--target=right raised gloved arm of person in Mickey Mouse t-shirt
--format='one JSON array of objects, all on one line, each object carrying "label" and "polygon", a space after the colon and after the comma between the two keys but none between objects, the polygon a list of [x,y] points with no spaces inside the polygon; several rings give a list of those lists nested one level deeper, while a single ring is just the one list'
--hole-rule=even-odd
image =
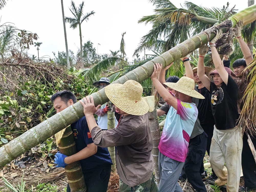
[{"label": "right raised gloved arm of person in Mickey Mouse t-shirt", "polygon": [[228,84],[228,72],[224,68],[223,62],[220,59],[219,53],[215,47],[216,41],[221,37],[222,37],[222,30],[217,30],[216,36],[209,43],[210,43],[210,47],[211,47],[211,55],[212,55],[212,60],[213,60],[214,66],[215,66],[216,70],[218,71],[222,81],[227,85]]}]

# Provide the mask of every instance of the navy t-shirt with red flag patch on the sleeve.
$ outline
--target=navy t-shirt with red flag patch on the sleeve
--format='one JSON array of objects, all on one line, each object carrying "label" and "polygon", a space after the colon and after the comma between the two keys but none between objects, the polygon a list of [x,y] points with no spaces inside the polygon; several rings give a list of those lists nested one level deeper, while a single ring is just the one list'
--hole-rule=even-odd
[{"label": "navy t-shirt with red flag patch on the sleeve", "polygon": [[[72,123],[71,129],[73,131],[74,140],[76,142],[77,152],[87,147],[88,144],[93,143],[85,116]],[[97,165],[112,164],[112,160],[110,158],[108,148],[97,147],[97,153],[87,157],[86,159],[80,160],[80,164],[82,170],[85,171],[92,169]]]}]

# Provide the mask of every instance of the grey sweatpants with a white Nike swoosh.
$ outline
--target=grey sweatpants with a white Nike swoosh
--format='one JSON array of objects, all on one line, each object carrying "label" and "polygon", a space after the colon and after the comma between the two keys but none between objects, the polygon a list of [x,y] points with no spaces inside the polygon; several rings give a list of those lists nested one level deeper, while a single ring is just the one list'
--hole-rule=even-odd
[{"label": "grey sweatpants with a white Nike swoosh", "polygon": [[160,182],[158,186],[159,192],[183,192],[178,183],[184,162],[179,162],[166,157],[159,151],[158,166]]}]

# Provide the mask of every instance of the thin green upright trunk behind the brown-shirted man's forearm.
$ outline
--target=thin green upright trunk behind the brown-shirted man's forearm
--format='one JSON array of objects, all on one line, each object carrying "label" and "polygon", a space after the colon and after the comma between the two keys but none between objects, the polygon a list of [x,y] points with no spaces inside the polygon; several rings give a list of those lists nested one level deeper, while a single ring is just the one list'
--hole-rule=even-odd
[{"label": "thin green upright trunk behind the brown-shirted man's forearm", "polygon": [[[111,112],[112,110],[112,103],[109,101],[109,109],[108,111],[108,129],[114,129],[115,128],[115,112]],[[113,147],[108,147],[109,154],[112,160],[113,165],[111,165],[111,172],[116,172],[116,167],[115,167],[115,146]]]}]

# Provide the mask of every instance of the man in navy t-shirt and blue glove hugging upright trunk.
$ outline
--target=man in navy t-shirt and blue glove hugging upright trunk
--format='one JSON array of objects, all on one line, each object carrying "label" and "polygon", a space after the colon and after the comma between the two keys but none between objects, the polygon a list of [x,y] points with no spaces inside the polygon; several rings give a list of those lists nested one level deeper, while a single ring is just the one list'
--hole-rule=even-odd
[{"label": "man in navy t-shirt and blue glove hugging upright trunk", "polygon": [[[51,101],[57,113],[77,102],[75,95],[68,90],[55,93]],[[71,129],[78,152],[71,156],[57,153],[55,163],[58,167],[65,167],[67,164],[80,161],[87,192],[106,192],[112,165],[108,149],[97,147],[93,143],[85,116],[72,123]],[[70,192],[69,185],[67,192]]]}]

